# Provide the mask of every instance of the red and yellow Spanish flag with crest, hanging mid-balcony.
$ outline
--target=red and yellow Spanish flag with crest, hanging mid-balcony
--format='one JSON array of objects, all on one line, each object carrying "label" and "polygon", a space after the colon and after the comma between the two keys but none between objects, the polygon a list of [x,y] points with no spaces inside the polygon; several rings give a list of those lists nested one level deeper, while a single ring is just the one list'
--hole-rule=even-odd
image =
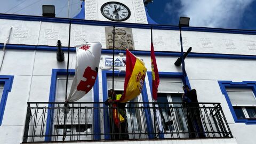
[{"label": "red and yellow Spanish flag with crest, hanging mid-balcony", "polygon": [[126,50],[126,73],[124,79],[124,94],[119,102],[127,102],[136,98],[142,90],[147,69],[140,59]]}]

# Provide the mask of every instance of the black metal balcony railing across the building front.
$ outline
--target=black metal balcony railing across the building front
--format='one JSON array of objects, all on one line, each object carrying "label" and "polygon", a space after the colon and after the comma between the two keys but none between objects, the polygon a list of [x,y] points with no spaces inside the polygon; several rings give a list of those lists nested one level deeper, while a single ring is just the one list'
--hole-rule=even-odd
[{"label": "black metal balcony railing across the building front", "polygon": [[233,138],[220,103],[128,102],[116,124],[105,102],[64,105],[28,102],[23,142]]}]

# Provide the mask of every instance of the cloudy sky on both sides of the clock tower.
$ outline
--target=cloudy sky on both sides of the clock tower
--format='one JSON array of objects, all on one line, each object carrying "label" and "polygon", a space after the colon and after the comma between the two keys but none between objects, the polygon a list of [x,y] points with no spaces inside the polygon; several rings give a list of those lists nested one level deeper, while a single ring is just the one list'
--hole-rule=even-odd
[{"label": "cloudy sky on both sides of the clock tower", "polygon": [[[0,13],[40,16],[43,4],[55,5],[56,17],[67,18],[68,0],[2,0]],[[80,0],[70,0],[70,17],[80,5]],[[148,10],[164,25],[178,25],[179,17],[185,16],[190,26],[256,30],[256,0],[154,0]]]}]

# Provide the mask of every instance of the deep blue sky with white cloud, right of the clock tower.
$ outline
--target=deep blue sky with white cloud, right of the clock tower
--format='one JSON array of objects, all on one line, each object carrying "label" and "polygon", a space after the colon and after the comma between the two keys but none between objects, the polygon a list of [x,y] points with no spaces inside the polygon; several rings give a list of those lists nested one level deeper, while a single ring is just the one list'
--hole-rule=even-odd
[{"label": "deep blue sky with white cloud, right of the clock tower", "polygon": [[255,0],[155,0],[148,12],[164,25],[177,26],[183,16],[195,27],[256,30]]}]

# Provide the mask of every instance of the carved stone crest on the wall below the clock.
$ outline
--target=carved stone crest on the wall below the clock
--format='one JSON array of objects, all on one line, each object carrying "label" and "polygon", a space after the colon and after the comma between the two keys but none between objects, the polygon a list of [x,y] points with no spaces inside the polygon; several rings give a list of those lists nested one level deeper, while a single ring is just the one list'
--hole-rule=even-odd
[{"label": "carved stone crest on the wall below the clock", "polygon": [[[112,27],[105,27],[107,49],[113,49],[114,30]],[[115,29],[115,49],[134,50],[134,42],[131,28]]]}]

